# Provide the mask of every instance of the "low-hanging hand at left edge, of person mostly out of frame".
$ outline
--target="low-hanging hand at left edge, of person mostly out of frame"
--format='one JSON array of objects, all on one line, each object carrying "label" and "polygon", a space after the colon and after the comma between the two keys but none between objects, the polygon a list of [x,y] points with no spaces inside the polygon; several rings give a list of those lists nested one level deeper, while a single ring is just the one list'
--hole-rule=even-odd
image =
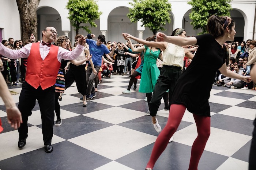
[{"label": "low-hanging hand at left edge, of person mostly out of frame", "polygon": [[7,112],[8,123],[10,123],[11,127],[13,127],[14,129],[18,129],[18,127],[20,127],[20,123],[23,123],[21,113],[18,107],[14,106],[12,108],[8,108],[6,112]]}]

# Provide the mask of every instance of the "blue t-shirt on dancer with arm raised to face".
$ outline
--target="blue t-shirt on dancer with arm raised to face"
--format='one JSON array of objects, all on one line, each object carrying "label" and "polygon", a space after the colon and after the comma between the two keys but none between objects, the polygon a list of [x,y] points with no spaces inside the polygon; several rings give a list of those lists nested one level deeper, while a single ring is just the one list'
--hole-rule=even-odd
[{"label": "blue t-shirt on dancer with arm raised to face", "polygon": [[94,66],[101,66],[102,55],[104,53],[109,54],[110,51],[104,44],[97,46],[96,42],[97,41],[95,40],[86,39],[86,43],[90,48],[90,54],[92,55],[91,59],[93,60]]}]

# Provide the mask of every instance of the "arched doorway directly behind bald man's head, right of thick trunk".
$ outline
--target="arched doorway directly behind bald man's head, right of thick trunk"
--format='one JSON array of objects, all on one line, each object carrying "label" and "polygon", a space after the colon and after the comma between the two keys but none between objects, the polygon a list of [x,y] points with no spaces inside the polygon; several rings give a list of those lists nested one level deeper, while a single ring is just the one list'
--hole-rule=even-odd
[{"label": "arched doorway directly behind bald man's head, right of thick trunk", "polygon": [[41,7],[37,9],[37,37],[38,40],[42,39],[42,30],[45,27],[54,27],[58,35],[64,35],[61,29],[61,17],[56,9],[51,7]]}]

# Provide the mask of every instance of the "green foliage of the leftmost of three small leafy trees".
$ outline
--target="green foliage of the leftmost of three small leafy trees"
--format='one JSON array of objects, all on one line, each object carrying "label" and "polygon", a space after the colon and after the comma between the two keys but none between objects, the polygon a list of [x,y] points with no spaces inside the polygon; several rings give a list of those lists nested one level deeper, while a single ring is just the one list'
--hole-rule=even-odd
[{"label": "green foliage of the leftmost of three small leafy trees", "polygon": [[76,34],[81,28],[91,33],[88,26],[80,26],[80,24],[89,23],[91,27],[97,27],[94,20],[98,20],[102,14],[98,11],[98,4],[94,0],[69,0],[66,8],[69,11],[68,19],[71,21],[71,25],[76,28]]}]

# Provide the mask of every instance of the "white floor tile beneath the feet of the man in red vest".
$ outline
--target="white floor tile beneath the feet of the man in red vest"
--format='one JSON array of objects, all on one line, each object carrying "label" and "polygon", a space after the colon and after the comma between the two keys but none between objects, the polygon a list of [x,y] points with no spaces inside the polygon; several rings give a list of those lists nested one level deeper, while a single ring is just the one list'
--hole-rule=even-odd
[{"label": "white floor tile beneath the feet of the man in red vest", "polygon": [[[16,155],[20,155],[23,153],[27,153],[39,148],[44,147],[42,129],[36,126],[29,127],[28,138],[26,139],[26,146],[22,149],[18,148],[18,139],[19,133],[18,130],[7,132],[0,134],[0,146],[1,146],[1,153],[0,154],[0,161],[3,159],[7,159],[10,157],[14,157]],[[53,135],[52,144],[59,143],[65,141],[65,139],[60,138],[56,135]],[[44,149],[42,149],[44,152]],[[4,153],[4,154],[3,154]]]}]

